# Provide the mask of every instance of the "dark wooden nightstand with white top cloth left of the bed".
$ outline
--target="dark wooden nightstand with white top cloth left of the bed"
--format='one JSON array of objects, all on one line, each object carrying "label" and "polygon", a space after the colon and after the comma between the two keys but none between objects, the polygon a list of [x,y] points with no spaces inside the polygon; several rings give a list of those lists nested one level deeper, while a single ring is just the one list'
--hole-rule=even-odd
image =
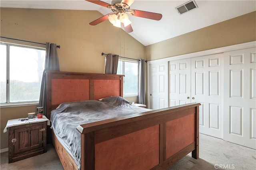
[{"label": "dark wooden nightstand with white top cloth left of the bed", "polygon": [[8,120],[4,132],[9,131],[9,163],[30,158],[47,151],[46,129],[49,119]]}]

